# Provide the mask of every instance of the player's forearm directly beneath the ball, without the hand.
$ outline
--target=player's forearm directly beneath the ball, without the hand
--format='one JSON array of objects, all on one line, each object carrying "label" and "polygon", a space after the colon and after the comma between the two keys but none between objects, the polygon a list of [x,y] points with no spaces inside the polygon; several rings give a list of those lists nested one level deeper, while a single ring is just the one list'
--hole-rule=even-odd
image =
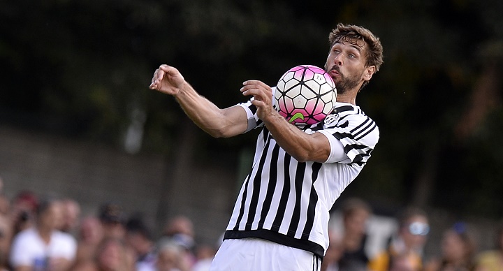
[{"label": "player's forearm directly beneath the ball, without the hand", "polygon": [[328,159],[330,143],[325,136],[304,133],[296,126],[286,122],[286,119],[276,112],[263,121],[278,145],[297,161],[323,163]]}]

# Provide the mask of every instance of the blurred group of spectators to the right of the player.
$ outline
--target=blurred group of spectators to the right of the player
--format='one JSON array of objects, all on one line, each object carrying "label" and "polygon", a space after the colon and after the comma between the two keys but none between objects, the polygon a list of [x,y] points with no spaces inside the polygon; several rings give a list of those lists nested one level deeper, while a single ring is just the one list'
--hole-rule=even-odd
[{"label": "blurred group of spectators to the right of the player", "polygon": [[[494,249],[479,251],[474,226],[457,222],[442,230],[440,240],[428,240],[428,214],[406,207],[396,215],[398,226],[377,254],[367,253],[367,221],[372,209],[364,200],[349,198],[341,207],[342,230],[331,230],[322,271],[503,271],[503,224],[497,227]],[[425,256],[425,243],[438,254]]]}]

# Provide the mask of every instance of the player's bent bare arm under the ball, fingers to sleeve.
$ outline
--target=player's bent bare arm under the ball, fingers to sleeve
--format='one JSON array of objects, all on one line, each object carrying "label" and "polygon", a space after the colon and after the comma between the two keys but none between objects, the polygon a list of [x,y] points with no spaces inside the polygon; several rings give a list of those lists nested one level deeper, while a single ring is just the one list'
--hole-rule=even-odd
[{"label": "player's bent bare arm under the ball, fingers to sleeve", "polygon": [[311,135],[289,124],[272,107],[272,89],[258,80],[243,83],[241,92],[245,96],[254,96],[251,101],[257,108],[257,115],[264,122],[271,135],[285,152],[297,161],[315,161],[323,163],[330,155],[330,142],[322,133]]}]

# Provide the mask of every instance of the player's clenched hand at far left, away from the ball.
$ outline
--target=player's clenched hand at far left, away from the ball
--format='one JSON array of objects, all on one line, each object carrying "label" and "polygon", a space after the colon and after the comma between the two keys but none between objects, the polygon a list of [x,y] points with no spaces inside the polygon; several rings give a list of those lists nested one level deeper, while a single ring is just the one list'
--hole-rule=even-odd
[{"label": "player's clenched hand at far left, away from the ball", "polygon": [[177,68],[161,65],[154,72],[150,89],[155,89],[165,94],[176,95],[184,85],[182,73]]}]

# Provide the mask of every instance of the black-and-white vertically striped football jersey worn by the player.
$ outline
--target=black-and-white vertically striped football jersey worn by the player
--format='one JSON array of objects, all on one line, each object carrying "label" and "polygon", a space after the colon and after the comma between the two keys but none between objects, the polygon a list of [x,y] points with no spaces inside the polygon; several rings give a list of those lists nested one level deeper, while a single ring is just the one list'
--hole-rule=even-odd
[{"label": "black-and-white vertically striped football jersey worn by the player", "polygon": [[332,150],[324,163],[300,163],[272,138],[251,101],[240,106],[247,112],[247,131],[262,130],[251,173],[242,184],[224,239],[261,238],[323,258],[328,248],[329,210],[370,158],[379,129],[358,106],[336,103],[323,122],[300,129],[323,133],[330,146],[339,140],[348,158],[335,161]]}]

